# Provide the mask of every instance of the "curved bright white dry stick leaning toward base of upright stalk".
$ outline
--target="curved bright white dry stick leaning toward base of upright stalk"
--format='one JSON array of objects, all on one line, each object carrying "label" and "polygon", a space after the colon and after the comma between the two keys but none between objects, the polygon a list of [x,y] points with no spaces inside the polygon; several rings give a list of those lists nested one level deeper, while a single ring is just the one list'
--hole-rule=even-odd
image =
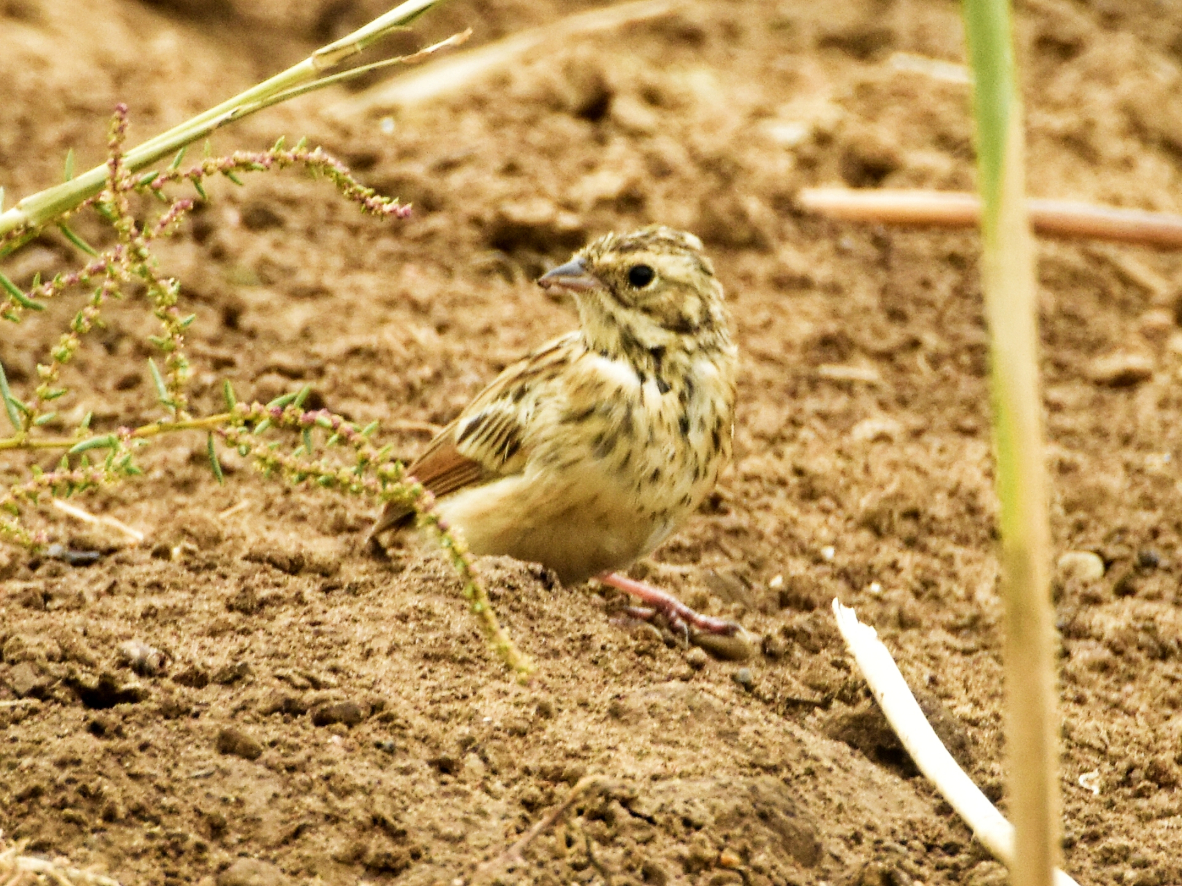
[{"label": "curved bright white dry stick leaning toward base of upright stalk", "polygon": [[[842,632],[878,706],[920,771],[928,776],[949,806],[965,819],[985,848],[1009,866],[1014,858],[1013,826],[936,737],[875,628],[858,621],[853,610],[843,606],[837,599],[833,600],[833,615],[837,618],[837,630]],[[1059,869],[1054,872],[1054,882],[1056,886],[1078,886]]]}]

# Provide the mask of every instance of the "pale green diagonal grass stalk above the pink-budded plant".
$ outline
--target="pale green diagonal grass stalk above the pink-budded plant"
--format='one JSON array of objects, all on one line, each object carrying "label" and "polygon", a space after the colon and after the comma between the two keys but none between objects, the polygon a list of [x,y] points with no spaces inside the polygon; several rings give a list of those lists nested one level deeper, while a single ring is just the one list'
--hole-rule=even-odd
[{"label": "pale green diagonal grass stalk above the pink-budded plant", "polygon": [[[324,77],[324,73],[387,34],[405,27],[439,2],[440,0],[407,0],[348,37],[322,46],[286,71],[132,148],[121,158],[124,167],[136,172],[204,138],[219,126],[300,96],[311,89],[339,82],[342,77],[355,72],[333,77]],[[364,70],[371,67],[366,66]],[[0,236],[18,228],[39,228],[69,213],[98,194],[106,184],[109,174],[110,170],[104,163],[61,184],[25,197],[11,209],[0,213]]]}]

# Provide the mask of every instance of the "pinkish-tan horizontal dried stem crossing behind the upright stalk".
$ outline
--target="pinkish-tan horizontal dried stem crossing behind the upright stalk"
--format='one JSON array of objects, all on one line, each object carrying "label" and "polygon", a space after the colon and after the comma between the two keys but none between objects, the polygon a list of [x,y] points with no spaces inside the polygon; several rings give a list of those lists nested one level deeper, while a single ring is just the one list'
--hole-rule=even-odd
[{"label": "pinkish-tan horizontal dried stem crossing behind the upright stalk", "polygon": [[[981,223],[981,198],[959,191],[804,188],[797,202],[812,213],[871,224],[975,228]],[[1173,213],[1039,198],[1027,200],[1026,210],[1038,234],[1182,248],[1182,215]]]}]

